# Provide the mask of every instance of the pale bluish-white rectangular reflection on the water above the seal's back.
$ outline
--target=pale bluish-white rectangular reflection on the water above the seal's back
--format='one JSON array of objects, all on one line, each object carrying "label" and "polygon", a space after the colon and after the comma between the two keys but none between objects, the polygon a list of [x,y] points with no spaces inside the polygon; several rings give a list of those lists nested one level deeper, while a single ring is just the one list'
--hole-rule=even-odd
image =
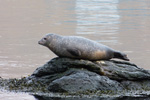
[{"label": "pale bluish-white rectangular reflection on the water above the seal's back", "polygon": [[76,0],[77,34],[117,34],[118,0]]}]

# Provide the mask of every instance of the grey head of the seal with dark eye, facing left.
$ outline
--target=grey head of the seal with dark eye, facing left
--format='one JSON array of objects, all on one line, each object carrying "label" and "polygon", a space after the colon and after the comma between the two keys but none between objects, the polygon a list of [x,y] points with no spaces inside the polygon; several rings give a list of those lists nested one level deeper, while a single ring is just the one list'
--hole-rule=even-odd
[{"label": "grey head of the seal with dark eye, facing left", "polygon": [[48,46],[50,42],[52,41],[54,35],[55,34],[53,33],[46,34],[40,41],[38,41],[38,44],[43,45],[43,46]]}]

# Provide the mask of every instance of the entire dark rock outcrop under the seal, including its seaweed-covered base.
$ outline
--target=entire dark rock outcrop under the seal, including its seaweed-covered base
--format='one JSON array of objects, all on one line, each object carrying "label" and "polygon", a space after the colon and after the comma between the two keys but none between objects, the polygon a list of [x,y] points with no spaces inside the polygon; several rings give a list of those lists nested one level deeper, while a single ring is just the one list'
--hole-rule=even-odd
[{"label": "entire dark rock outcrop under the seal, including its seaweed-covered base", "polygon": [[149,95],[150,72],[135,64],[54,58],[21,79],[0,79],[13,91],[65,93],[65,95]]}]

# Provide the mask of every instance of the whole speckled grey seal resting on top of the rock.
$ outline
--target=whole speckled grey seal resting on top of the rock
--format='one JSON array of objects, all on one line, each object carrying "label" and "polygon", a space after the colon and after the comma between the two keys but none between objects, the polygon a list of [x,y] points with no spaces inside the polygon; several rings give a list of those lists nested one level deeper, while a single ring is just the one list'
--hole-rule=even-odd
[{"label": "whole speckled grey seal resting on top of the rock", "polygon": [[45,35],[39,42],[59,57],[85,60],[109,60],[118,58],[129,61],[127,55],[108,46],[80,36]]}]

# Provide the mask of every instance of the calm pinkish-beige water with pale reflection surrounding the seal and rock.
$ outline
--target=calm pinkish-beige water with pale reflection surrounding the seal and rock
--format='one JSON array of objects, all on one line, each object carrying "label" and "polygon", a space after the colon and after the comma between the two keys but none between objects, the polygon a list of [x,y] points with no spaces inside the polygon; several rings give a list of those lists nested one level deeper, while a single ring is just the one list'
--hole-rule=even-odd
[{"label": "calm pinkish-beige water with pale reflection surrounding the seal and rock", "polygon": [[46,33],[95,40],[127,53],[131,62],[150,69],[149,0],[0,0],[0,4],[3,78],[28,76],[56,57],[37,44]]}]

